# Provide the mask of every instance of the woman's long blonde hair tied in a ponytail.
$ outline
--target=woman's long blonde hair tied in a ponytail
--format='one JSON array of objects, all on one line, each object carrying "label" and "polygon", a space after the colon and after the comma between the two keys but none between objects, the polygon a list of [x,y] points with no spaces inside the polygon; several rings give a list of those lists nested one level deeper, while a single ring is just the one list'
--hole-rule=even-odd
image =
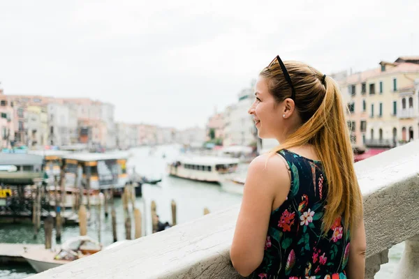
[{"label": "woman's long blonde hair tied in a ponytail", "polygon": [[[328,232],[338,216],[345,230],[362,217],[362,195],[353,168],[353,151],[344,116],[341,93],[335,80],[325,77],[307,64],[286,61],[286,70],[295,89],[295,110],[302,119],[300,126],[271,155],[282,149],[311,144],[320,158],[328,181],[327,206],[323,216],[323,232]],[[271,63],[260,72],[267,80],[277,103],[291,97],[278,63]]]}]

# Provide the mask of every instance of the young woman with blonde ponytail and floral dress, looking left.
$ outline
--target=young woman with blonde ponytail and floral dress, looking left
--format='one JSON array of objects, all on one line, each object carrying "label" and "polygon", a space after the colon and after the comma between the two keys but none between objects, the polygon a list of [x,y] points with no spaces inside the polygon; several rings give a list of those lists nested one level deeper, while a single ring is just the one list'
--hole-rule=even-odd
[{"label": "young woman with blonde ponytail and floral dress, looking left", "polygon": [[249,165],[230,257],[252,278],[364,278],[362,195],[332,78],[277,56],[249,109],[279,146]]}]

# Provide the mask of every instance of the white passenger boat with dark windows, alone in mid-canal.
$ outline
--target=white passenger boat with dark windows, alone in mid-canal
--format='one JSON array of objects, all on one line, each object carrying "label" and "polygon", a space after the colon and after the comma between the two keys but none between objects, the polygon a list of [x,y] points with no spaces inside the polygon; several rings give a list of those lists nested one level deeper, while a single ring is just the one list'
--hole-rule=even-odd
[{"label": "white passenger boat with dark windows, alone in mid-canal", "polygon": [[168,164],[168,173],[184,179],[221,183],[223,176],[237,170],[239,162],[236,158],[183,156]]}]

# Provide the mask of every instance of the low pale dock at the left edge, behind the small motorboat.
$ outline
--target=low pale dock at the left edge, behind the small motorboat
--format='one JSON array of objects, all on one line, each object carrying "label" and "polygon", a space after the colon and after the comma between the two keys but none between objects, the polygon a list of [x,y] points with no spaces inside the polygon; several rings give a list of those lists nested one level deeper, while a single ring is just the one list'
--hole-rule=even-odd
[{"label": "low pale dock at the left edge, behind the small motorboat", "polygon": [[22,257],[23,253],[43,247],[43,244],[0,243],[0,264],[27,264],[27,260]]}]

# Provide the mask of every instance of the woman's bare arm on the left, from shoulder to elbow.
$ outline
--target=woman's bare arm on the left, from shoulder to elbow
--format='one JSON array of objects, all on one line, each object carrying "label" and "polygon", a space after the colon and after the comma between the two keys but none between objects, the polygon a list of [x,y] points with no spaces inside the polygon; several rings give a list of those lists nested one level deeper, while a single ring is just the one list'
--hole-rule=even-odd
[{"label": "woman's bare arm on the left, from shoulder to elbow", "polygon": [[277,156],[272,156],[265,167],[266,159],[266,156],[259,156],[249,165],[242,206],[230,248],[233,266],[245,277],[263,260],[274,196],[279,193],[285,199],[289,191],[290,181],[284,163]]}]

